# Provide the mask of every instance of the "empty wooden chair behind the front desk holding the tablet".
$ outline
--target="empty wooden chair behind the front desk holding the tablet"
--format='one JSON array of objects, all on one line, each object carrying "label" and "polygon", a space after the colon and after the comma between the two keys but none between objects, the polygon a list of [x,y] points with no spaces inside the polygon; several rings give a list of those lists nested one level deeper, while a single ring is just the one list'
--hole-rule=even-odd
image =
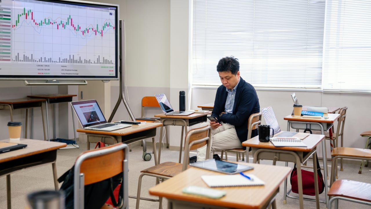
[{"label": "empty wooden chair behind the front desk holding the tablet", "polygon": [[174,163],[174,162],[165,162],[165,163],[152,166],[145,170],[142,170],[141,175],[139,176],[139,181],[138,181],[136,209],[139,209],[140,199],[158,201],[160,202],[159,208],[162,208],[162,197],[160,197],[158,200],[140,197],[142,177],[153,176],[153,177],[161,178],[161,179],[170,179],[171,177],[181,173],[182,171],[188,168],[190,150],[198,149],[205,145],[207,145],[206,146],[206,159],[208,159],[210,155],[210,146],[211,146],[210,135],[211,135],[211,126],[209,125],[188,131],[187,135],[185,136],[185,142],[184,142],[183,164]]}]

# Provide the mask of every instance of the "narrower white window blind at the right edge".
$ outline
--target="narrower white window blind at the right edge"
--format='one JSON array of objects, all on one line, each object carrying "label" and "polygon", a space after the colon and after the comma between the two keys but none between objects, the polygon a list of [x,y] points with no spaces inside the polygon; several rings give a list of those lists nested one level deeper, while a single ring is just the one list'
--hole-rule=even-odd
[{"label": "narrower white window blind at the right edge", "polygon": [[324,91],[371,92],[371,1],[326,4]]}]

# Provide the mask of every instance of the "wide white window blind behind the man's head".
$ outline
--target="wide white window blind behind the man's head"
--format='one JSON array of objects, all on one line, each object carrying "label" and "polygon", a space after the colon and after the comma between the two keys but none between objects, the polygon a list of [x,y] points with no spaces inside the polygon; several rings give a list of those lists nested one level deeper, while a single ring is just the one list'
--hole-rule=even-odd
[{"label": "wide white window blind behind the man's head", "polygon": [[231,56],[255,87],[321,88],[324,0],[194,0],[192,84]]}]

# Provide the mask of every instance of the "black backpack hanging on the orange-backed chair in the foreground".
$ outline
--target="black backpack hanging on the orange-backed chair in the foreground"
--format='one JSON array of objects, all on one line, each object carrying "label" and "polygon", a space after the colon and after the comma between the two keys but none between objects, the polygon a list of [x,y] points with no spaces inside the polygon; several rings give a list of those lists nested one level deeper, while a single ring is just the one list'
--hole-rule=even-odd
[{"label": "black backpack hanging on the orange-backed chair in the foreground", "polygon": [[[65,193],[65,208],[73,209],[73,174],[75,165],[61,177],[59,177],[58,182],[63,181],[60,190]],[[118,200],[115,200],[113,190],[117,185],[121,183],[122,186],[122,173],[117,174],[114,177],[99,181],[93,184],[85,185],[84,194],[84,207],[89,209],[100,209],[108,200],[109,197],[112,199],[112,204],[117,207],[122,202],[122,188],[120,187]],[[116,202],[117,201],[117,202]]]}]

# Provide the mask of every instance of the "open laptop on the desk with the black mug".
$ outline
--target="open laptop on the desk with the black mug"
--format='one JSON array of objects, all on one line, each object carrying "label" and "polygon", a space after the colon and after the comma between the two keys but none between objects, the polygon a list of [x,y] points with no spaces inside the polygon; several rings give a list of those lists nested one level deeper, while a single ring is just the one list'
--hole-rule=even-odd
[{"label": "open laptop on the desk with the black mug", "polygon": [[270,125],[270,128],[273,128],[275,132],[275,137],[296,137],[299,139],[304,139],[305,137],[309,136],[309,133],[302,133],[302,132],[292,132],[292,131],[281,131],[278,125],[278,121],[273,112],[272,106],[264,107],[260,110],[264,117],[265,123]]}]

